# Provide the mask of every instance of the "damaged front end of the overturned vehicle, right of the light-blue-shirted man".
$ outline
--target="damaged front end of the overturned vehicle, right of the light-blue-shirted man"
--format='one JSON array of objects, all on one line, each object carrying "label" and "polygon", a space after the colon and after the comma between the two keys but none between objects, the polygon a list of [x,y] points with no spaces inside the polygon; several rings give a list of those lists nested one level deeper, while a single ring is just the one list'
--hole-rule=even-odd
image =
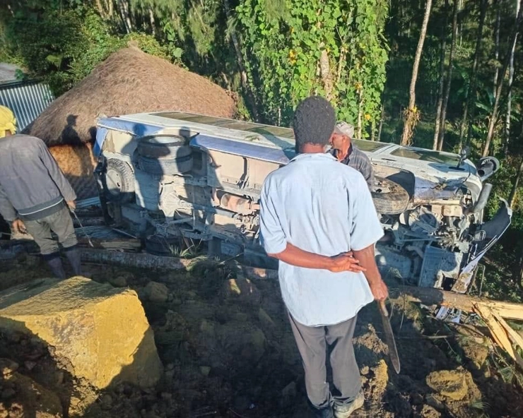
[{"label": "damaged front end of the overturned vehicle, right of the light-blue-shirted man", "polygon": [[505,201],[483,222],[492,191],[486,180],[499,169],[498,160],[486,157],[476,167],[467,150],[457,155],[357,143],[372,148],[368,155],[377,175],[372,196],[385,232],[377,245],[380,267],[411,285],[466,292],[481,257],[510,225]]}]

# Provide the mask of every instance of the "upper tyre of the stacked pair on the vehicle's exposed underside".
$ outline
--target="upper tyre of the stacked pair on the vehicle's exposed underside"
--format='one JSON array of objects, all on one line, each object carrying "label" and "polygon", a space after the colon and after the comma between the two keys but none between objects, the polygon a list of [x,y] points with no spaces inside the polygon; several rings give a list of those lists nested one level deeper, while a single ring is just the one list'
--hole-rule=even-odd
[{"label": "upper tyre of the stacked pair on the vehicle's exposed underside", "polygon": [[145,136],[139,140],[138,155],[155,160],[177,160],[192,154],[192,149],[182,137]]}]

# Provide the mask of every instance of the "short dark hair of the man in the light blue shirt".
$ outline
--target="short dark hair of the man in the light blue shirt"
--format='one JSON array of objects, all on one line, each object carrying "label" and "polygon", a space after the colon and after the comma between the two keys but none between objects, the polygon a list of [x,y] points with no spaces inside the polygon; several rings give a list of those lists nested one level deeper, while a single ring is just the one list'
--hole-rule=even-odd
[{"label": "short dark hair of the man in the light blue shirt", "polygon": [[294,112],[294,137],[300,150],[306,143],[327,145],[334,132],[336,112],[323,97],[310,96],[302,100]]}]

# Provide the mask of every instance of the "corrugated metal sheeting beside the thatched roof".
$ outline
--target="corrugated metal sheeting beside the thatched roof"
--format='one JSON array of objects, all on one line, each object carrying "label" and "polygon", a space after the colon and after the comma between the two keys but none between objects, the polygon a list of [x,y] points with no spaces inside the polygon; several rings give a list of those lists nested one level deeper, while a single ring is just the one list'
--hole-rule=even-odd
[{"label": "corrugated metal sheeting beside the thatched roof", "polygon": [[18,132],[34,121],[54,100],[49,85],[37,81],[0,84],[0,104],[11,109],[18,121]]}]

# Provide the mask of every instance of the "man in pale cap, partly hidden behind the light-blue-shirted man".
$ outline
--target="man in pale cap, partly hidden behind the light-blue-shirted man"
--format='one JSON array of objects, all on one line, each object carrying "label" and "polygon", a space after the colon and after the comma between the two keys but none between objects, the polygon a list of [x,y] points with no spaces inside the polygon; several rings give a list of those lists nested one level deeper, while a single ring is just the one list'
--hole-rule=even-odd
[{"label": "man in pale cap, partly hidden behind the light-blue-shirted man", "polygon": [[354,145],[354,126],[346,122],[338,122],[334,128],[334,135],[331,137],[331,154],[339,162],[353,167],[363,175],[365,181],[372,188],[374,184],[374,172],[369,157]]}]

